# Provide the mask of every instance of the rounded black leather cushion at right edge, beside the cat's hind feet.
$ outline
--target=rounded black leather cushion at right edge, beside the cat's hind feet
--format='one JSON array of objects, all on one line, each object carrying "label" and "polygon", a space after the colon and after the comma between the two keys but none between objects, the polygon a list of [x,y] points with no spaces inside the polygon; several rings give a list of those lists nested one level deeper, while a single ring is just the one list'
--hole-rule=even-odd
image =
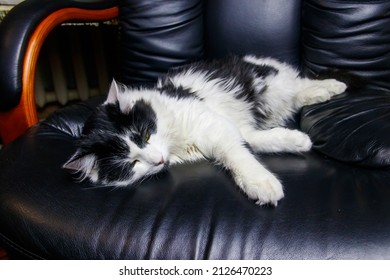
[{"label": "rounded black leather cushion at right edge, beside the cat's hind feet", "polygon": [[360,90],[308,106],[301,128],[314,149],[343,162],[390,166],[390,94]]}]

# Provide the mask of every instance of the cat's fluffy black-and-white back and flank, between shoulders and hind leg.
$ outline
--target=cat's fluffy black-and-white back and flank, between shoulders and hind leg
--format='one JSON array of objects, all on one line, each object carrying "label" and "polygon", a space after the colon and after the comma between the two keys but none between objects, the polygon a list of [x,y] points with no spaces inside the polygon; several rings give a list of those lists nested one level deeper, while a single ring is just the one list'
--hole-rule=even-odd
[{"label": "cat's fluffy black-and-white back and flank, between shoulders and hind leg", "polygon": [[289,103],[291,93],[286,91],[294,88],[289,85],[297,75],[291,66],[272,58],[231,56],[171,69],[157,88],[173,102],[189,101],[195,104],[192,109],[202,107],[238,127],[263,127],[279,103]]}]

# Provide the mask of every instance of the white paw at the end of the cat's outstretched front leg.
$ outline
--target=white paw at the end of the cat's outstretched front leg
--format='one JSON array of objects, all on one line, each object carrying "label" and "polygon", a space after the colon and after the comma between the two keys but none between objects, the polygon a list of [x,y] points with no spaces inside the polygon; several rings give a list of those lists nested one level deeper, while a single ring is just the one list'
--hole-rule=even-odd
[{"label": "white paw at the end of the cat's outstretched front leg", "polygon": [[282,184],[270,172],[258,172],[256,176],[244,179],[243,190],[258,205],[277,206],[278,201],[284,197]]}]

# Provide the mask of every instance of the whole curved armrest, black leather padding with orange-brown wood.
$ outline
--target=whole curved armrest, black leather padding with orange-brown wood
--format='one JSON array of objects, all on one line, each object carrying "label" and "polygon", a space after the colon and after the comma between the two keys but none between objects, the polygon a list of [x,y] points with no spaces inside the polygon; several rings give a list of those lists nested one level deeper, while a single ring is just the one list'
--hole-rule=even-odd
[{"label": "whole curved armrest, black leather padding with orange-brown wood", "polygon": [[12,9],[0,25],[0,136],[11,142],[38,119],[34,76],[40,48],[66,21],[116,18],[116,0],[29,0]]}]

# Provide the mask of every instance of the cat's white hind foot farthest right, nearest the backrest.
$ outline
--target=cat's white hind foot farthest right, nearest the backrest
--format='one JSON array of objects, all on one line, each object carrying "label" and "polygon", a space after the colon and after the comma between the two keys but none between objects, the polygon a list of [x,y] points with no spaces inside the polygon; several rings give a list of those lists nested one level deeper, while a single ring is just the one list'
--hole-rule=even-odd
[{"label": "cat's white hind foot farthest right, nearest the backrest", "polygon": [[294,103],[296,108],[328,101],[332,96],[343,93],[347,85],[335,79],[303,79]]}]

